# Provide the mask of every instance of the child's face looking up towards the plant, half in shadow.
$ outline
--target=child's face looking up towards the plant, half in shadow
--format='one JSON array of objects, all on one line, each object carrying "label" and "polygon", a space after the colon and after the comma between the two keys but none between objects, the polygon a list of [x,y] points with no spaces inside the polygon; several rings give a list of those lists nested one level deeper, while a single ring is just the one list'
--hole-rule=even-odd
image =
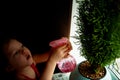
[{"label": "child's face looking up towards the plant, half in shadow", "polygon": [[14,68],[24,68],[33,63],[30,50],[15,39],[4,45],[4,52]]}]

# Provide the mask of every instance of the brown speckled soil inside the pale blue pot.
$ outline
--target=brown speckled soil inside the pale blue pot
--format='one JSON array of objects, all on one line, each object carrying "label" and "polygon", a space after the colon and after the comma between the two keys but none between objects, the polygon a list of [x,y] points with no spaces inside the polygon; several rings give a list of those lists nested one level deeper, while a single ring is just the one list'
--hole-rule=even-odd
[{"label": "brown speckled soil inside the pale blue pot", "polygon": [[78,70],[82,76],[91,80],[100,80],[106,74],[105,68],[100,68],[99,73],[93,73],[93,70],[90,69],[90,63],[88,61],[80,63]]}]

